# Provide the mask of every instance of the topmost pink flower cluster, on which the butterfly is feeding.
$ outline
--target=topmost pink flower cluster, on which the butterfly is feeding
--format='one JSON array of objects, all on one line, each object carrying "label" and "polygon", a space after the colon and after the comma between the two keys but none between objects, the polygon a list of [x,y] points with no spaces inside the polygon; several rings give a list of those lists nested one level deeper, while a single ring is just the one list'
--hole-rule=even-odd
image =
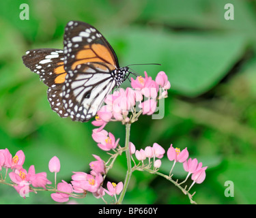
[{"label": "topmost pink flower cluster, on which the butterfly is feeding", "polygon": [[152,80],[145,72],[145,77],[138,76],[136,80],[131,78],[131,85],[133,89],[119,89],[106,97],[105,105],[98,111],[93,125],[102,129],[109,121],[128,123],[130,111],[141,110],[143,114],[151,115],[156,111],[158,92],[159,99],[167,97],[167,89],[171,88],[165,72],[159,72],[156,80]]}]

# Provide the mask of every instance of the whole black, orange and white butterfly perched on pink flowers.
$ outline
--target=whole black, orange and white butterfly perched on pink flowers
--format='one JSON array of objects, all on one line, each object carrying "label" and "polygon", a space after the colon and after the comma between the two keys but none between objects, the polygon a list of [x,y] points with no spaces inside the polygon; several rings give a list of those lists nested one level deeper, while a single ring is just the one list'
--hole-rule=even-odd
[{"label": "whole black, orange and white butterfly perched on pink flowers", "polygon": [[89,121],[114,87],[128,78],[129,67],[119,67],[115,51],[91,25],[70,21],[63,50],[27,50],[23,63],[48,86],[48,102],[61,117]]}]

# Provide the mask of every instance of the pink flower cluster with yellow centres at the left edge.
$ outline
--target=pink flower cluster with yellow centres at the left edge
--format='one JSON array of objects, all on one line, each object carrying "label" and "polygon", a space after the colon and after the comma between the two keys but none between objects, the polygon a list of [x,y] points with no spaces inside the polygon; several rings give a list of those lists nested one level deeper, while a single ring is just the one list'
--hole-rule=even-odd
[{"label": "pink flower cluster with yellow centres at the left edge", "polygon": [[11,181],[15,184],[14,189],[18,191],[20,196],[25,198],[27,194],[33,189],[30,187],[42,187],[46,189],[46,185],[51,184],[48,181],[46,172],[39,172],[35,174],[35,167],[32,165],[29,167],[29,171],[23,169],[23,163],[25,161],[25,155],[23,151],[18,151],[14,157],[12,157],[8,149],[0,150],[0,170],[10,168],[12,172],[9,173]]}]

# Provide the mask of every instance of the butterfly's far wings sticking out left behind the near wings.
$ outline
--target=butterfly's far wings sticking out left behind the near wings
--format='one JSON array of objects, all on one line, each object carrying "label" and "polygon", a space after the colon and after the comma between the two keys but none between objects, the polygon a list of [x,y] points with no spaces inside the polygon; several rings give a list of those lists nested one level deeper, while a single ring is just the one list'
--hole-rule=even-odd
[{"label": "butterfly's far wings sticking out left behind the near wings", "polygon": [[53,48],[28,50],[23,56],[23,63],[32,72],[39,74],[40,80],[49,87],[48,102],[52,110],[61,117],[69,116],[62,102],[62,87],[67,74],[64,69],[63,50]]}]

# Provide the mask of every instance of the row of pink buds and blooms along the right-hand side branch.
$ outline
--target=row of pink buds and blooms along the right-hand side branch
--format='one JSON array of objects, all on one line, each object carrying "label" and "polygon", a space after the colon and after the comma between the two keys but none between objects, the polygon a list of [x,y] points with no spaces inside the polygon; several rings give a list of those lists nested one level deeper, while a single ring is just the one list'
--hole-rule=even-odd
[{"label": "row of pink buds and blooms along the right-hand side branch", "polygon": [[[161,166],[161,158],[165,154],[165,149],[162,148],[157,143],[154,143],[153,146],[147,146],[145,149],[136,150],[134,144],[130,142],[130,154],[135,154],[135,157],[143,163],[145,159],[148,158],[148,161],[150,163],[150,159],[154,158],[153,166],[154,169],[158,169]],[[198,163],[197,159],[188,159],[188,150],[183,149],[180,151],[180,149],[173,148],[173,145],[169,147],[167,150],[167,157],[169,161],[173,161],[173,167],[175,166],[175,163],[180,162],[183,163],[184,170],[188,172],[188,176],[192,174],[191,179],[194,181],[194,183],[203,183],[205,179],[205,170],[208,168],[207,166],[202,167],[202,163]],[[158,158],[158,159],[156,159]],[[144,164],[144,163],[143,163]],[[171,176],[171,171],[173,170],[173,167],[170,170],[169,176]],[[187,178],[188,178],[187,176]],[[187,179],[186,178],[186,179]]]}]

